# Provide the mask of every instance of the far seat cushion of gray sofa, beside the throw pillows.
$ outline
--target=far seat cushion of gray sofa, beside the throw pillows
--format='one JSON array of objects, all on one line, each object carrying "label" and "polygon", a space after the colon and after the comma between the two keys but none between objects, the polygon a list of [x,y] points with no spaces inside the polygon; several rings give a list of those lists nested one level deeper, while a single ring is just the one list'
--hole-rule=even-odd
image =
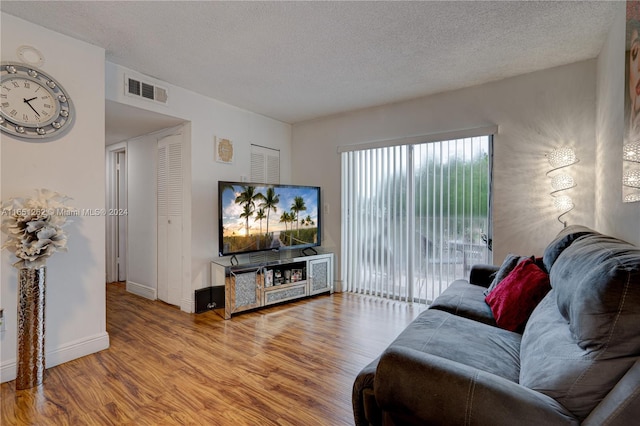
[{"label": "far seat cushion of gray sofa, beside the throw pillows", "polygon": [[457,280],[429,305],[429,309],[439,309],[458,316],[496,326],[491,308],[484,301],[485,287]]}]

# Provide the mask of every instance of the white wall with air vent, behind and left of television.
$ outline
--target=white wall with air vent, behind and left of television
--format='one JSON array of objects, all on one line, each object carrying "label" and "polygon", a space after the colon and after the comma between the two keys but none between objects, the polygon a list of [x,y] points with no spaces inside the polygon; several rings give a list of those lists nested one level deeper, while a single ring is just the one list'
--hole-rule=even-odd
[{"label": "white wall with air vent, behind and left of television", "polygon": [[[138,77],[169,89],[167,105],[124,95],[124,74]],[[181,118],[190,123],[185,151],[189,164],[190,184],[185,202],[189,218],[185,220],[188,238],[184,256],[187,267],[183,278],[183,310],[194,310],[193,291],[209,286],[209,262],[217,257],[217,182],[240,181],[250,175],[250,146],[252,143],[280,150],[280,178],[291,182],[291,126],[277,120],[246,111],[167,82],[141,76],[135,71],[107,62],[106,98],[149,111]],[[231,139],[234,143],[234,163],[214,160],[214,136]],[[132,166],[133,167],[133,166]]]}]

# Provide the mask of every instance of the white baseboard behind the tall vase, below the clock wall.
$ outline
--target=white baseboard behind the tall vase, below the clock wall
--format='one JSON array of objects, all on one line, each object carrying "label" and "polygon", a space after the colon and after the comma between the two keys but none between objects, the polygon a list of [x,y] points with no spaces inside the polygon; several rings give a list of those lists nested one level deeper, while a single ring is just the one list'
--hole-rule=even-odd
[{"label": "white baseboard behind the tall vase, below the clock wall", "polygon": [[[109,334],[107,332],[89,336],[86,339],[76,340],[67,343],[45,354],[45,367],[55,367],[83,356],[100,352],[109,348]],[[0,382],[8,382],[16,378],[16,359],[0,365]]]}]

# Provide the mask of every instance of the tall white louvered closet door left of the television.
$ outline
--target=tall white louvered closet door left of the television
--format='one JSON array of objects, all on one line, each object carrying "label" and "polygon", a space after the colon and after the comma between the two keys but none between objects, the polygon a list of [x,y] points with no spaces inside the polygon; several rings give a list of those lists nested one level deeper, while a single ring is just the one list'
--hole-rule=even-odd
[{"label": "tall white louvered closet door left of the television", "polygon": [[158,299],[180,306],[182,293],[182,135],[158,141]]}]

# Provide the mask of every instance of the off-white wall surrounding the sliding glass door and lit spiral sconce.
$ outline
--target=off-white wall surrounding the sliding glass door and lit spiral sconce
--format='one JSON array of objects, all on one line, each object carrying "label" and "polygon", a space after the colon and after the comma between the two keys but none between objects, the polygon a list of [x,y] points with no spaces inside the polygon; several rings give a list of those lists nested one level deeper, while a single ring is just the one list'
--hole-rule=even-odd
[{"label": "off-white wall surrounding the sliding glass door and lit spiral sconce", "polygon": [[[499,125],[494,139],[494,263],[509,252],[541,255],[562,229],[549,196],[545,154],[568,144],[576,209],[569,223],[594,226],[595,60],[293,126],[293,178],[320,185],[324,232],[340,260],[340,156],[337,147]],[[312,160],[309,160],[312,159]],[[314,167],[309,167],[312,161]]]}]

